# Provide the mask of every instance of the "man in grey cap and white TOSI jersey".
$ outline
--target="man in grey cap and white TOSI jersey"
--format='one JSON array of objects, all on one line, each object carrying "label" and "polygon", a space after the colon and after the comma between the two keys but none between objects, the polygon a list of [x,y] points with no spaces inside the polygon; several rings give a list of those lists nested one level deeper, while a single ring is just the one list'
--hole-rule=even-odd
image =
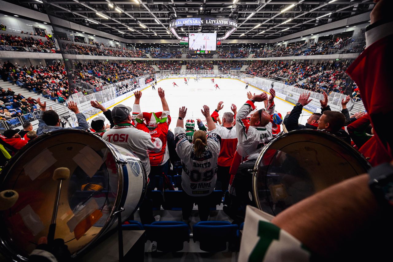
[{"label": "man in grey cap and white TOSI jersey", "polygon": [[[117,105],[113,108],[111,115],[114,122],[114,127],[106,131],[103,139],[112,144],[116,144],[129,150],[139,157],[140,161],[145,166],[146,173],[150,173],[150,152],[160,152],[162,142],[160,138],[153,138],[149,133],[138,130],[131,124],[131,108],[125,105]],[[152,183],[148,183],[145,199],[139,208],[140,218],[143,224],[151,224],[160,218],[153,217],[152,202],[151,202]]]}]

